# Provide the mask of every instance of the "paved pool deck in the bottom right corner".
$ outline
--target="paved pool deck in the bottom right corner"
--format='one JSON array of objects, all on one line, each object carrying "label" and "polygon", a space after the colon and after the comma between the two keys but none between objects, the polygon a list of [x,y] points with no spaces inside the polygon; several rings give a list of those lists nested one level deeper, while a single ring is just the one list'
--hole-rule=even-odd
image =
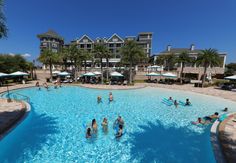
[{"label": "paved pool deck in the bottom right corner", "polygon": [[236,114],[229,116],[219,126],[219,139],[229,163],[236,162]]}]

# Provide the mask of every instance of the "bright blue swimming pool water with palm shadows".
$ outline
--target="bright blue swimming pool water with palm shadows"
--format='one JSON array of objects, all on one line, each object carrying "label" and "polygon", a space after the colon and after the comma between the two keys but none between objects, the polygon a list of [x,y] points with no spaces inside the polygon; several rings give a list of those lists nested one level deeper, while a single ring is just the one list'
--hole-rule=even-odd
[{"label": "bright blue swimming pool water with palm shadows", "polygon": [[[112,91],[75,86],[17,90],[30,97],[31,112],[0,142],[0,162],[215,162],[210,126],[195,126],[197,117],[236,111],[234,102],[160,88]],[[13,92],[13,94],[14,94]],[[103,102],[97,104],[100,95]],[[162,98],[190,99],[193,106],[166,106]],[[125,121],[125,134],[114,137],[113,122]],[[102,119],[108,118],[108,133]],[[95,118],[96,137],[85,138],[85,125]]]}]

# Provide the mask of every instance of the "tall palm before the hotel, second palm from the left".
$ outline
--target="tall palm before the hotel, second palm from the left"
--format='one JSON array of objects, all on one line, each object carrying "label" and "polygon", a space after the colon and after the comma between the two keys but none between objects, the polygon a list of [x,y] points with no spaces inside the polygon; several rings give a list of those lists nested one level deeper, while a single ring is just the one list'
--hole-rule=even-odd
[{"label": "tall palm before the hotel, second palm from the left", "polygon": [[68,49],[68,58],[70,59],[71,63],[74,65],[75,68],[75,82],[77,82],[77,73],[78,66],[81,62],[81,54],[82,52],[78,50],[76,44],[72,44]]}]

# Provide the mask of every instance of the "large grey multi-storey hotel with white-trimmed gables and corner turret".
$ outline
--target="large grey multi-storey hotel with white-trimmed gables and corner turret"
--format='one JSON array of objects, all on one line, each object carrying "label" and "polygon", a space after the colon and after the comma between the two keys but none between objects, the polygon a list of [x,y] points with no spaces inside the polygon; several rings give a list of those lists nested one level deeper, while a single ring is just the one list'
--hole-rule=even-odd
[{"label": "large grey multi-storey hotel with white-trimmed gables and corner turret", "polygon": [[[134,40],[137,44],[143,48],[144,53],[147,57],[151,56],[152,53],[152,33],[151,32],[141,32],[137,36],[128,36],[125,38],[120,37],[118,34],[113,34],[109,38],[96,38],[92,39],[88,35],[83,35],[82,37],[72,40],[69,44],[64,45],[63,38],[59,36],[54,31],[48,31],[43,34],[39,34],[40,39],[40,51],[44,48],[52,49],[54,52],[60,51],[62,46],[69,46],[71,44],[76,44],[78,49],[86,50],[92,52],[94,45],[96,43],[103,43],[111,52],[112,58],[109,59],[109,67],[116,67],[121,60],[120,50],[125,44],[125,40]],[[91,67],[92,61],[87,61],[87,67]],[[103,66],[106,66],[106,59],[103,59]],[[100,67],[99,63],[96,63],[95,67]],[[46,68],[44,66],[44,68]],[[54,66],[55,68],[55,66]]]}]

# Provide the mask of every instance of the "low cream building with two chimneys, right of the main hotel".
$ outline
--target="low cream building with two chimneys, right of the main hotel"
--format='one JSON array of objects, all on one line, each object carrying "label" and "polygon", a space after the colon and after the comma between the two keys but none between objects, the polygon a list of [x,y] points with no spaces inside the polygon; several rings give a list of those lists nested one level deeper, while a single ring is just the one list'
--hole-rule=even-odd
[{"label": "low cream building with two chimneys, right of the main hotel", "polygon": [[[190,55],[191,58],[196,59],[202,50],[203,49],[196,49],[194,44],[191,44],[191,46],[189,48],[172,48],[171,45],[168,45],[166,50],[160,52],[158,55],[174,54],[178,57],[181,53],[186,52]],[[215,75],[223,76],[223,74],[224,74],[227,53],[218,52],[218,54],[220,55],[220,58],[221,58],[221,65],[219,65],[218,67],[212,67],[212,68],[209,67],[207,69],[207,75],[209,77],[215,76]],[[158,55],[152,56],[154,58],[154,62],[156,61],[156,58],[158,57]],[[164,65],[164,67],[166,67],[166,65]],[[176,63],[174,68],[177,70],[177,72],[180,72],[181,68],[182,68],[182,64]],[[204,72],[203,66],[201,66],[201,65],[197,66],[194,63],[186,63],[183,73],[186,76],[188,76],[188,75],[195,76],[196,79],[200,80],[203,75],[203,72]]]}]

